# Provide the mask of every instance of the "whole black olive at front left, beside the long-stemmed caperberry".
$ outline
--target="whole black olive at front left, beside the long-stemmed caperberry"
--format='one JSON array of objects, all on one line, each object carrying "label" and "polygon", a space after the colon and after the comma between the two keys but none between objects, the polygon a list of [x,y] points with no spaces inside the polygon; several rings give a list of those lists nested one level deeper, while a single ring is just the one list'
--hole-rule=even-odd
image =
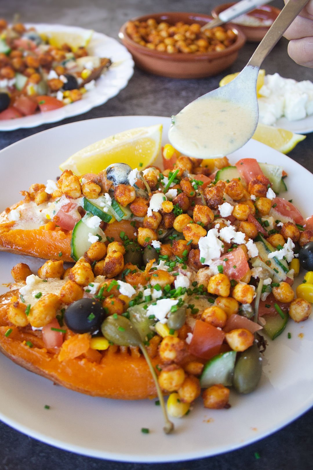
[{"label": "whole black olive at front left, beside the long-stemmed caperberry", "polygon": [[74,333],[93,333],[100,329],[104,316],[104,308],[98,300],[81,298],[65,310],[64,321]]}]

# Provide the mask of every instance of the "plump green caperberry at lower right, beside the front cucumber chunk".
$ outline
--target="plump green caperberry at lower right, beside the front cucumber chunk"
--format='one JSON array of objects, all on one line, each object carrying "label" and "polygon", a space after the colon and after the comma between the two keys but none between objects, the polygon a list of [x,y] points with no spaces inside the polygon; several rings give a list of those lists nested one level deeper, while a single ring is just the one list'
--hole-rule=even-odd
[{"label": "plump green caperberry at lower right, beside the front cucumber chunk", "polygon": [[239,393],[253,392],[262,374],[262,357],[257,345],[252,345],[240,354],[234,369],[233,385]]}]

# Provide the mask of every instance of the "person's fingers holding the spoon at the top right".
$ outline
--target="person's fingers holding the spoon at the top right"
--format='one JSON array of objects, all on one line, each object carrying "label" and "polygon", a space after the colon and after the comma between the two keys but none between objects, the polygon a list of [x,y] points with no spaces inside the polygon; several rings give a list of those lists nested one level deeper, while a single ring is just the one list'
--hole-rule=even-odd
[{"label": "person's fingers holding the spoon at the top right", "polygon": [[[284,0],[285,3],[289,0]],[[294,1],[294,0],[290,0]],[[285,31],[288,54],[300,65],[313,68],[313,0],[310,0]]]}]

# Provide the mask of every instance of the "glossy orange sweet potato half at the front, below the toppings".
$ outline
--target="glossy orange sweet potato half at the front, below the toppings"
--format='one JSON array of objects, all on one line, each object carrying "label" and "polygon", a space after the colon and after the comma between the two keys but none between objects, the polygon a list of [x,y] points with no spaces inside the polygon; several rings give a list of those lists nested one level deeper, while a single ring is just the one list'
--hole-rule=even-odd
[{"label": "glossy orange sweet potato half at the front, below the toppings", "polygon": [[[104,352],[100,363],[86,358],[58,360],[59,349],[47,350],[40,331],[17,328],[8,321],[8,304],[12,290],[0,296],[0,351],[25,369],[76,392],[114,399],[146,399],[157,396],[146,360],[127,352]],[[12,333],[6,337],[8,328]],[[25,344],[31,341],[33,347]],[[156,366],[157,356],[152,359]]]}]

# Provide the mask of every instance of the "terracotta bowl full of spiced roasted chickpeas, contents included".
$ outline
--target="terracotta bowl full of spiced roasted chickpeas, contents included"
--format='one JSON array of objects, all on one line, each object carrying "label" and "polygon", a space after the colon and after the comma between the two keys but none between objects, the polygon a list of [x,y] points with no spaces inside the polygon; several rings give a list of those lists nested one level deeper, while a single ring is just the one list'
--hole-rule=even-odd
[{"label": "terracotta bowl full of spiced roasted chickpeas, contents included", "polygon": [[235,25],[201,30],[211,16],[198,13],[157,13],[127,21],[119,38],[135,64],[169,78],[217,75],[235,62],[245,36]]}]

